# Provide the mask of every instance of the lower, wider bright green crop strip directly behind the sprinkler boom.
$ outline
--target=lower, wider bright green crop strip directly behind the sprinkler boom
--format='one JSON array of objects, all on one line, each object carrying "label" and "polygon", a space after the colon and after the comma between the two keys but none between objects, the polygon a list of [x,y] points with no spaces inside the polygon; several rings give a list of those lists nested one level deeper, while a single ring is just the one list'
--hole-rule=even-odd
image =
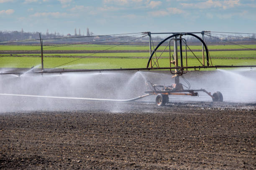
[{"label": "lower, wider bright green crop strip directly behind the sprinkler boom", "polygon": [[[58,65],[65,64],[75,58],[57,58],[46,57],[44,59],[44,68],[52,68]],[[107,68],[141,68],[146,67],[148,59],[142,58],[82,58],[80,60],[62,65],[59,68],[67,69],[107,69]],[[161,67],[169,67],[168,59],[159,60]],[[199,66],[200,62],[196,59],[189,59],[188,66]],[[215,59],[214,65],[256,65],[256,60],[230,60],[230,59]],[[39,57],[1,57],[0,67],[16,67],[30,68],[41,67],[41,58]]]}]

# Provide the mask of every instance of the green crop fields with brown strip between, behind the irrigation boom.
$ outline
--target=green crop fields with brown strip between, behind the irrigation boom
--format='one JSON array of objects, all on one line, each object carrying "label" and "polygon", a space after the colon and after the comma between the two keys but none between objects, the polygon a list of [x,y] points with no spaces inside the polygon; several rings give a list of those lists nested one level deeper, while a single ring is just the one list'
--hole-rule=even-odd
[{"label": "green crop fields with brown strip between, behind the irrigation boom", "polygon": [[[57,46],[57,45],[56,45]],[[146,67],[149,57],[148,46],[143,45],[69,45],[44,46],[44,68],[109,69]],[[256,65],[256,45],[209,45],[213,65]],[[161,55],[164,46],[156,52]],[[183,47],[184,49],[185,47]],[[200,45],[189,46],[188,66],[199,66],[202,62]],[[0,67],[40,68],[41,50],[38,45],[0,45]],[[106,50],[108,49],[108,50]],[[32,51],[31,51],[32,50]],[[212,50],[212,51],[211,51]],[[195,58],[194,54],[200,59]],[[171,54],[172,55],[172,54]],[[156,60],[154,56],[154,60]],[[158,60],[160,67],[169,67],[169,52],[165,51]],[[183,52],[185,56],[185,52]],[[75,60],[73,62],[73,60]],[[185,60],[185,59],[184,59]],[[71,62],[69,64],[65,64]]]}]

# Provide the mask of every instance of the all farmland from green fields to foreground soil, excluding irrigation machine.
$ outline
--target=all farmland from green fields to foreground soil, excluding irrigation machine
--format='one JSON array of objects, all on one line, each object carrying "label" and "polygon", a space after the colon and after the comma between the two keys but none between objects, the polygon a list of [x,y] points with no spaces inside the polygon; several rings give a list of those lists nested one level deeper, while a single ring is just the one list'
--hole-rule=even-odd
[{"label": "all farmland from green fields to foreground soil, excluding irrigation machine", "polygon": [[[40,50],[5,47],[0,69],[41,68]],[[143,46],[93,47],[45,49],[44,68],[145,68],[148,62]],[[213,65],[256,65],[255,50],[222,47],[210,51]],[[200,46],[193,48],[202,61]],[[169,52],[158,62],[169,67]],[[188,66],[195,65],[201,64],[188,52]],[[163,107],[155,105],[155,96],[100,101],[144,94],[145,80],[172,84],[169,70],[2,75],[0,169],[255,169],[255,71],[201,70],[207,71],[187,72],[186,80],[193,88],[221,91],[224,102],[206,94],[171,95]]]}]

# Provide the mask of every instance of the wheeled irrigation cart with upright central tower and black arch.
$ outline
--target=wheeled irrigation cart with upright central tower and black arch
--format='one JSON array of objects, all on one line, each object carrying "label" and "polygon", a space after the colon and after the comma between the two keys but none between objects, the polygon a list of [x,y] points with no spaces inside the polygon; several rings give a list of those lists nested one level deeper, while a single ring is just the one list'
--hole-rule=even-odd
[{"label": "wheeled irrigation cart with upright central tower and black arch", "polygon": [[[151,34],[173,34],[169,37],[166,37],[164,40],[162,40],[156,48],[154,48],[154,51],[151,52]],[[164,85],[156,85],[153,84],[149,81],[146,81],[146,86],[149,89],[149,91],[146,91],[145,93],[148,93],[150,95],[156,95],[156,104],[158,106],[164,106],[166,103],[169,102],[169,95],[189,95],[189,96],[198,96],[198,92],[205,92],[207,95],[212,97],[213,102],[222,102],[223,101],[223,95],[221,92],[217,91],[211,94],[211,92],[206,91],[205,89],[184,89],[184,85],[180,83],[180,77],[183,77],[184,73],[187,73],[187,41],[185,38],[182,38],[183,35],[191,35],[198,40],[202,42],[202,67],[205,66],[205,52],[206,52],[206,61],[207,61],[207,66],[209,66],[209,51],[207,48],[207,45],[205,44],[204,40],[195,35],[195,33],[200,33],[202,34],[202,37],[204,37],[205,31],[202,32],[186,32],[186,33],[176,33],[176,32],[167,32],[167,33],[151,33],[147,32],[149,39],[150,39],[150,57],[148,60],[147,68],[153,67],[154,65],[157,65],[157,60],[159,57],[156,57],[156,60],[154,60],[153,64],[153,56],[156,54],[156,50],[166,41],[169,41],[169,60],[170,60],[170,72],[173,74],[172,78],[174,78],[175,83],[169,86],[164,86]],[[171,42],[173,43],[173,55],[171,51]],[[185,43],[185,58],[186,58],[186,67],[183,67],[183,56],[182,56],[182,42]],[[180,53],[180,66],[179,66],[179,59],[178,59],[178,43],[179,43],[179,53]],[[167,46],[168,46],[167,45]],[[166,48],[165,48],[166,49]],[[164,50],[165,50],[164,49]],[[204,52],[205,50],[205,52]],[[156,56],[156,55],[155,55]],[[174,71],[172,71],[172,64],[176,67]],[[195,68],[195,67],[194,67]],[[184,70],[186,69],[186,70]],[[196,69],[196,68],[195,68]],[[199,67],[200,69],[200,67]],[[184,79],[185,80],[185,79]]]}]

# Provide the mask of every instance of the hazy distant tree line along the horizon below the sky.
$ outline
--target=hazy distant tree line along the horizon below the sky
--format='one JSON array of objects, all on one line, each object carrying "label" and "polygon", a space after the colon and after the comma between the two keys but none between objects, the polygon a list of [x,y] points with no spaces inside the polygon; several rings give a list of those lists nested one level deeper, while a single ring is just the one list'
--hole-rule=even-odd
[{"label": "hazy distant tree line along the horizon below the sky", "polygon": [[[54,32],[54,33],[49,33],[49,30],[47,29],[46,33],[41,33],[41,32],[24,32],[23,29],[21,29],[21,31],[0,31],[0,41],[12,41],[12,40],[33,40],[33,39],[39,39],[39,34],[41,34],[41,38],[45,39],[45,38],[62,38],[62,37],[80,37],[80,36],[92,36],[94,35],[93,32],[90,32],[89,28],[87,28],[87,32],[86,35],[81,34],[81,30],[79,28],[78,32],[77,29],[74,29],[74,35],[71,34],[67,34],[67,35],[63,35],[60,34],[59,32]],[[94,36],[94,37],[83,37],[83,38],[68,38],[65,40],[58,40],[56,41],[56,43],[70,43],[70,42],[84,42],[84,41],[88,41],[88,42],[92,42],[92,41],[96,41],[99,42],[100,40],[107,40],[108,42],[123,42],[123,41],[131,41],[133,39],[135,39],[136,37],[131,36],[131,37],[127,37],[127,36],[123,36],[122,38],[118,38],[118,39],[114,39],[116,36],[103,36],[103,37],[99,37],[99,36]],[[119,36],[120,37],[120,36]],[[197,42],[198,39],[192,36],[184,36],[185,39],[187,41],[190,42]],[[245,38],[247,37],[247,38]],[[163,37],[160,36],[155,36],[153,37],[154,41],[161,41],[163,40]],[[220,42],[222,40],[225,41],[255,41],[255,34],[252,35],[235,35],[235,36],[221,36],[221,35],[211,35],[211,36],[206,36],[205,35],[205,39],[207,42]],[[141,41],[147,41],[148,37],[143,37],[140,38],[138,40],[136,40],[136,42],[141,42]]]}]

